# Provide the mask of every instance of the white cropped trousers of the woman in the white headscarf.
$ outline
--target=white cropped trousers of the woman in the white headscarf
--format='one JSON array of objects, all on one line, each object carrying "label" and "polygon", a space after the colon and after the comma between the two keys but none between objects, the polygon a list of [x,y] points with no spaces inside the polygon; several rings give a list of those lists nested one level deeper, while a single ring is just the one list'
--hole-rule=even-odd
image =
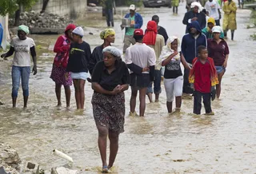
[{"label": "white cropped trousers of the woman in the white headscarf", "polygon": [[183,88],[183,77],[179,76],[177,78],[165,78],[163,80],[166,89],[166,97],[168,102],[174,101],[175,97],[182,96]]}]

